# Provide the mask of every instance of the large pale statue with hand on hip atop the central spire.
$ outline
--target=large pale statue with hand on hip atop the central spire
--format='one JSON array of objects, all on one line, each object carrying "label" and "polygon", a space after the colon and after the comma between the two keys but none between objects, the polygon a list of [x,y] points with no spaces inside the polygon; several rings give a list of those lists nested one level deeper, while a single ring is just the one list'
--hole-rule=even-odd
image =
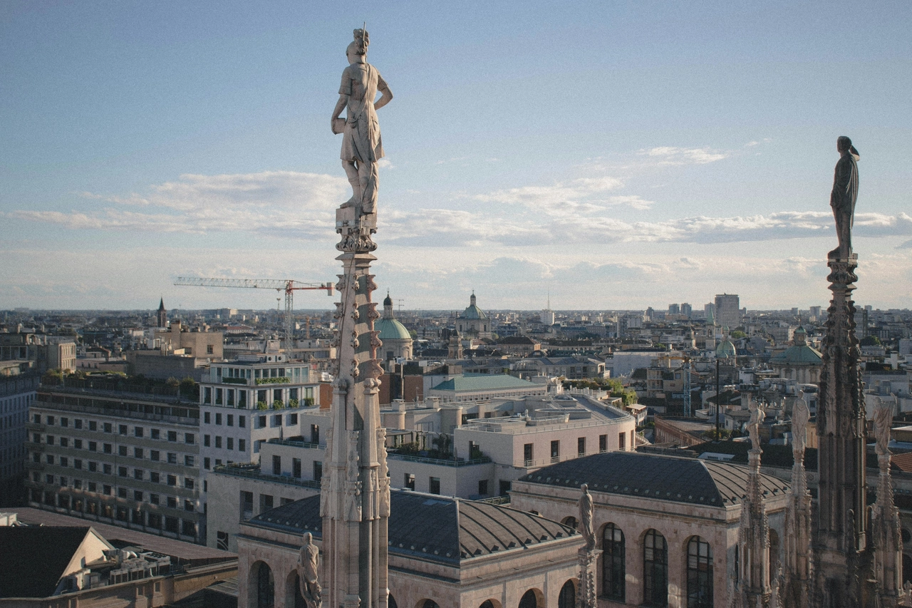
[{"label": "large pale statue with hand on hip atop the central spire", "polygon": [[[352,189],[351,198],[342,206],[354,206],[360,215],[377,211],[377,162],[384,154],[376,110],[393,99],[386,80],[368,63],[369,44],[368,32],[356,29],[355,40],[346,50],[348,67],[342,72],[339,100],[330,122],[333,133],[342,133],[342,167]],[[342,110],[347,110],[345,119],[339,118]]]}]

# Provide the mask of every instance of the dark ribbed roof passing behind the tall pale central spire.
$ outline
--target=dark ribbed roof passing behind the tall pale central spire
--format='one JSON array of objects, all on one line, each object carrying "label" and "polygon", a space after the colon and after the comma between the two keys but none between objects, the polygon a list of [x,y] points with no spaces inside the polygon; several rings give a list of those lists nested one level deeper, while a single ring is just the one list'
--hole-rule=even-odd
[{"label": "dark ribbed roof passing behind the tall pale central spire", "polygon": [[[322,538],[320,497],[265,511],[248,523]],[[463,560],[524,550],[576,535],[575,529],[525,511],[474,500],[391,490],[389,552],[409,559],[459,565]]]}]

